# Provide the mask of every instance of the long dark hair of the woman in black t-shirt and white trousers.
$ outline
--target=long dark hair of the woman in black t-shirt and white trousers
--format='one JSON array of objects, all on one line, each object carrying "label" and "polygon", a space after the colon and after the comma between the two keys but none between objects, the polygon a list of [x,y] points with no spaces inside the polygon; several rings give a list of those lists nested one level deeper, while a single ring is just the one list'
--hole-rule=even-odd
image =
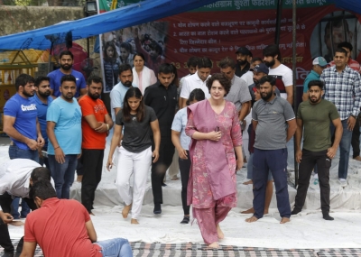
[{"label": "long dark hair of the woman in black t-shirt and white trousers", "polygon": [[138,87],[130,87],[128,89],[128,91],[126,91],[125,99],[124,99],[124,106],[122,109],[123,118],[124,118],[125,122],[130,122],[130,120],[131,120],[131,116],[130,116],[131,108],[128,104],[128,99],[130,97],[135,97],[135,98],[141,100],[139,107],[136,110],[136,120],[140,123],[143,121],[143,118],[145,117],[145,106],[144,106],[142,92],[141,92],[141,90],[139,90]]}]

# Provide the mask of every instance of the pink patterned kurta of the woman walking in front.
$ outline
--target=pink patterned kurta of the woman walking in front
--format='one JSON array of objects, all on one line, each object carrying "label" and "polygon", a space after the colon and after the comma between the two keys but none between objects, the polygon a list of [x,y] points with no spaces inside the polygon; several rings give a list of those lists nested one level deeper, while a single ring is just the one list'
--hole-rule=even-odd
[{"label": "pink patterned kurta of the woman walking in front", "polygon": [[[205,100],[203,103],[202,102],[197,104],[208,105],[206,107],[210,107],[208,100]],[[209,110],[209,108],[207,109]],[[230,176],[236,190],[236,156],[234,147],[242,145],[242,134],[238,123],[236,107],[233,103],[227,101],[225,108],[219,115],[213,110],[210,112],[208,111],[208,114],[204,115],[207,115],[207,119],[215,119],[214,124],[217,124],[219,131],[222,132],[220,145],[223,145],[224,151],[226,152],[226,165],[228,166],[228,170],[226,169],[226,172],[229,172],[229,174],[226,175]],[[197,117],[190,112],[188,124],[185,129],[189,136],[196,131],[199,131],[199,129],[195,126],[195,119],[197,119]],[[208,132],[212,130],[214,131],[215,127],[208,128]],[[207,128],[206,131],[199,132],[207,132]],[[206,157],[206,154],[208,153],[206,152],[208,151],[207,148],[204,147],[206,143],[206,140],[195,141],[194,152],[190,155],[192,166],[190,169],[190,180],[188,185],[188,204],[192,205],[193,208],[215,207],[216,203],[218,207],[236,207],[236,193],[222,197],[218,200],[213,197],[215,192],[212,192],[212,188],[210,186],[210,183],[213,181],[210,181],[208,176],[208,169],[209,167],[212,167],[212,163],[209,163],[209,160],[214,161],[214,163],[219,160],[218,156],[211,156],[211,159]],[[208,161],[208,165],[206,164],[206,161]],[[216,189],[222,190],[222,188]],[[213,190],[215,190],[215,188],[213,188]]]}]

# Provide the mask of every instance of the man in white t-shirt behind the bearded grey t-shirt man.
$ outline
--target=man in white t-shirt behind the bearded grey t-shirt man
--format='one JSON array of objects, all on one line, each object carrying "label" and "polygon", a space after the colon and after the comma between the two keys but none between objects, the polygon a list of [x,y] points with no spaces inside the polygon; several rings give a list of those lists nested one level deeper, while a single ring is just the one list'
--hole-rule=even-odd
[{"label": "man in white t-shirt behind the bearded grey t-shirt man", "polygon": [[293,105],[293,73],[292,69],[281,63],[281,52],[277,45],[271,44],[264,48],[264,64],[270,69],[268,75],[276,78],[276,87],[281,97]]}]

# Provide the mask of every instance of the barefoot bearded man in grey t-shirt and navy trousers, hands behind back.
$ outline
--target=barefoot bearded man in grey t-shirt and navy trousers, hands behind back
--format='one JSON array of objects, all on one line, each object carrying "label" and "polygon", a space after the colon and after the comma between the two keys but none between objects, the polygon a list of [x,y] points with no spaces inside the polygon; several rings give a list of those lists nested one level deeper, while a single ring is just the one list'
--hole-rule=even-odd
[{"label": "barefoot bearded man in grey t-shirt and navy trousers, hands behind back", "polygon": [[287,188],[287,148],[296,132],[296,120],[292,106],[282,97],[274,96],[275,78],[264,76],[260,79],[262,99],[252,110],[255,129],[254,152],[254,216],[246,222],[255,222],[264,216],[265,188],[268,170],[271,170],[276,188],[277,207],[282,217],[281,224],[289,222],[291,207]]}]

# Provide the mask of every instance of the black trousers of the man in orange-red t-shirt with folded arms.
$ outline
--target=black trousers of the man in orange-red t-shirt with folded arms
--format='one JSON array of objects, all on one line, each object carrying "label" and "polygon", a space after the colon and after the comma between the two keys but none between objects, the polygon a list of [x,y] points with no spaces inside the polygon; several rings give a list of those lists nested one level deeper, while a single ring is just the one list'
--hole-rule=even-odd
[{"label": "black trousers of the man in orange-red t-shirt with folded arms", "polygon": [[97,185],[101,180],[103,170],[104,150],[82,149],[80,162],[83,165],[81,181],[81,203],[91,212]]}]

